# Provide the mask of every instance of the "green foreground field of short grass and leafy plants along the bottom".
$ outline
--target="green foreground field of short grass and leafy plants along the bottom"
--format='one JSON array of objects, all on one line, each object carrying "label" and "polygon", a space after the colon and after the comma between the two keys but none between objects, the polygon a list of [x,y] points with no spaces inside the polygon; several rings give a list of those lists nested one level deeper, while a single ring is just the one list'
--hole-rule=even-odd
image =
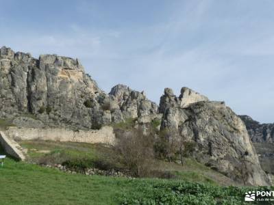
[{"label": "green foreground field of short grass and leafy plants along the bottom", "polygon": [[66,174],[5,160],[0,204],[243,204],[248,188]]}]

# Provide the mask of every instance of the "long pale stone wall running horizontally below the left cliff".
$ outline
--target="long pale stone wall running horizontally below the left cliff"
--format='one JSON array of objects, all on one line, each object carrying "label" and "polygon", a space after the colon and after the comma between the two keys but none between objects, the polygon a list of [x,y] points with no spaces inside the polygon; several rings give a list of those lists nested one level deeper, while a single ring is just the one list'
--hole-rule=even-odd
[{"label": "long pale stone wall running horizontally below the left cliff", "polygon": [[115,135],[111,126],[103,126],[100,130],[72,131],[66,128],[25,128],[9,127],[5,133],[12,139],[73,141],[85,143],[113,144]]}]

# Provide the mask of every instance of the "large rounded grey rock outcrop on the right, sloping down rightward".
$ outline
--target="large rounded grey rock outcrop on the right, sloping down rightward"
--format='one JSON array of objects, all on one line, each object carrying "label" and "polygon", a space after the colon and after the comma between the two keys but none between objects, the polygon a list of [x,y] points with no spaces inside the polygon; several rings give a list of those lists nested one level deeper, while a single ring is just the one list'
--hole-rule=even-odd
[{"label": "large rounded grey rock outcrop on the right, sloping down rightward", "polygon": [[161,98],[162,130],[176,130],[179,135],[175,137],[195,143],[192,156],[229,178],[245,184],[269,184],[245,124],[224,102],[198,98],[198,102],[186,100],[191,103],[184,107],[180,103],[184,97],[172,93],[165,90]]}]

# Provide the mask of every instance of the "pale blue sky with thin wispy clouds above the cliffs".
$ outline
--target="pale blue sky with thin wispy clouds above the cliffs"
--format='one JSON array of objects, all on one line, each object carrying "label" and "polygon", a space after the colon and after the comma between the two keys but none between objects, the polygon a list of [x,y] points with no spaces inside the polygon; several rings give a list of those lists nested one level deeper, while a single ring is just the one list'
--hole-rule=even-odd
[{"label": "pale blue sky with thin wispy clouds above the cliffs", "polygon": [[274,1],[0,0],[0,46],[77,57],[105,92],[190,87],[274,122]]}]

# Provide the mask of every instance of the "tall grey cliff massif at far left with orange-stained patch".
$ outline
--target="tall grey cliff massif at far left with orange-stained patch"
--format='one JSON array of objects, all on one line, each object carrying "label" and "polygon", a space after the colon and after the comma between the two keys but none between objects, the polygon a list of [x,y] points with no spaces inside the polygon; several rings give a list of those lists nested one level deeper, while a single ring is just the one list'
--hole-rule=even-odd
[{"label": "tall grey cliff massif at far left with orange-stained patch", "polygon": [[34,59],[2,47],[0,88],[0,118],[32,113],[49,126],[75,128],[92,128],[112,119],[102,107],[108,95],[77,59],[58,55]]}]

